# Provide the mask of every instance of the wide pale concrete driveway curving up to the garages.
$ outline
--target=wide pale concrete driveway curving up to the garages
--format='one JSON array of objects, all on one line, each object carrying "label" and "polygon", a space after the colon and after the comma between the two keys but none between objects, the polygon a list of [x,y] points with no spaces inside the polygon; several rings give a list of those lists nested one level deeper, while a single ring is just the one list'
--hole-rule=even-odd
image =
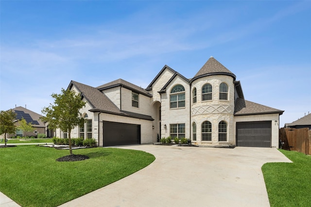
[{"label": "wide pale concrete driveway curving up to the garages", "polygon": [[155,155],[146,168],[61,207],[269,207],[261,166],[274,148],[123,146]]}]

